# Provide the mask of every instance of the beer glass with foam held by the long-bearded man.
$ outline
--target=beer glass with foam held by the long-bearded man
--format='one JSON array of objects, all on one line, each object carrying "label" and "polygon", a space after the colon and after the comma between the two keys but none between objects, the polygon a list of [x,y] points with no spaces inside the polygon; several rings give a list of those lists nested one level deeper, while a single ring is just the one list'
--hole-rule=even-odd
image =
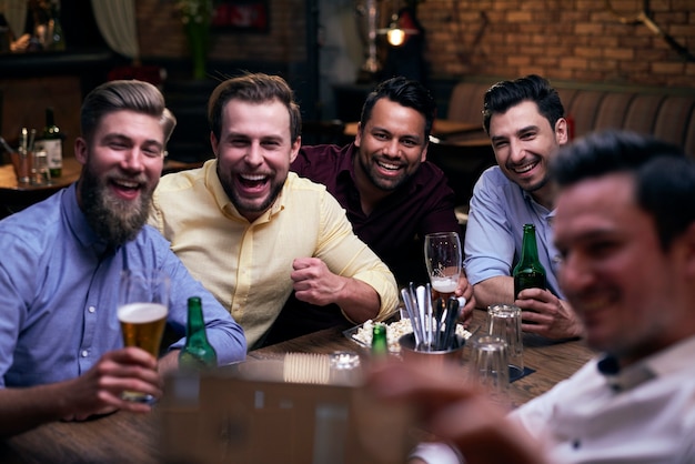
[{"label": "beer glass with foam held by the long-bearded man", "polygon": [[[125,346],[138,346],[154,357],[169,314],[169,275],[160,270],[128,270],[121,273],[117,314]],[[125,391],[123,400],[153,403],[152,395]]]}]

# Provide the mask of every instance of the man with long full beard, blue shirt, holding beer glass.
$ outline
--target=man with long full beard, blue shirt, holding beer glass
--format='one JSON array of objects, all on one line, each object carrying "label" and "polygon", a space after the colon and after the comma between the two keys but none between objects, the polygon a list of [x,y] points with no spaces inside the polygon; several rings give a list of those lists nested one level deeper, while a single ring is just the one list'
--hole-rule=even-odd
[{"label": "man with long full beard, blue shirt, holding beer glass", "polygon": [[187,301],[201,296],[220,364],[243,360],[242,329],[145,226],[175,120],[153,85],[112,81],[81,113],[79,181],[0,221],[0,435],[44,422],[151,406],[124,390],[161,395],[178,349],[159,361],[123,347],[115,315],[120,273],[158,269],[171,278],[168,324],[183,335]]}]

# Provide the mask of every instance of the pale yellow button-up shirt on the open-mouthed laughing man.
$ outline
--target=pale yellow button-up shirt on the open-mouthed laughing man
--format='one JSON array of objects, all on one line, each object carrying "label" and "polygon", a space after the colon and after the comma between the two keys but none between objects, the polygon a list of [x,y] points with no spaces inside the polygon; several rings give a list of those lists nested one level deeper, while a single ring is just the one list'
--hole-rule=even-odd
[{"label": "pale yellow button-up shirt on the open-mouthed laughing man", "polygon": [[381,297],[379,320],[397,306],[393,274],[353,233],[338,201],[323,185],[293,172],[273,205],[253,223],[226,196],[216,160],[164,175],[149,222],[241,324],[249,347],[270,329],[292,293],[295,258],[319,258],[334,274],[372,286]]}]

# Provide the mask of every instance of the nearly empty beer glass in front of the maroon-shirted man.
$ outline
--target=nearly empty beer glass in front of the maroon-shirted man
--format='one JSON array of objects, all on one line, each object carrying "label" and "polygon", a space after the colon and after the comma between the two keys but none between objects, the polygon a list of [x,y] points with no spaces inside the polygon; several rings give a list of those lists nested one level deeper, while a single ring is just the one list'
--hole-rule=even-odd
[{"label": "nearly empty beer glass in front of the maroon-shirted man", "polygon": [[454,294],[463,272],[461,239],[456,232],[429,233],[424,251],[432,289],[446,300]]}]

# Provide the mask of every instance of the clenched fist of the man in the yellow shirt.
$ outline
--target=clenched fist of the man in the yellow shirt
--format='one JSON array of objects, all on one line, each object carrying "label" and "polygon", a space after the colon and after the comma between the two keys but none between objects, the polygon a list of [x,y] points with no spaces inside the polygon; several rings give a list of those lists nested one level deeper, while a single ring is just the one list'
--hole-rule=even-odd
[{"label": "clenched fist of the man in the yellow shirt", "polygon": [[296,299],[319,306],[334,303],[349,280],[333,274],[318,258],[298,258],[292,269],[290,278]]}]

